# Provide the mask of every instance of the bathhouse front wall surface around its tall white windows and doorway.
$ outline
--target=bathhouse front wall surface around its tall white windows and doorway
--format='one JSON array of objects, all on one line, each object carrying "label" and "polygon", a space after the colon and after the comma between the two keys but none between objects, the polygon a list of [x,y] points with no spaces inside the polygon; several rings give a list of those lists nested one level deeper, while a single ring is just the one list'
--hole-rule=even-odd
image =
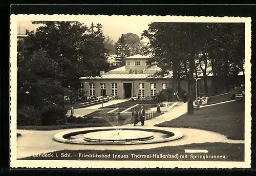
[{"label": "bathhouse front wall surface around its tall white windows and doorway", "polygon": [[[84,83],[86,82],[86,83]],[[133,96],[138,96],[139,94],[139,83],[144,83],[144,90],[145,90],[145,97],[146,96],[151,96],[151,83],[147,82],[145,79],[143,80],[81,80],[81,83],[84,84],[84,91],[87,92],[86,96],[90,95],[89,91],[89,83],[95,83],[95,95],[100,96],[100,83],[105,83],[106,84],[106,95],[111,95],[112,94],[112,83],[117,83],[117,96],[119,98],[124,98],[124,90],[123,90],[123,83],[132,83],[132,95]],[[172,80],[167,80],[167,79],[162,79],[162,80],[157,80],[157,89],[156,92],[162,91],[162,83],[168,83],[168,88],[172,87]],[[181,81],[181,87],[183,90],[187,90],[187,82],[186,81]]]}]

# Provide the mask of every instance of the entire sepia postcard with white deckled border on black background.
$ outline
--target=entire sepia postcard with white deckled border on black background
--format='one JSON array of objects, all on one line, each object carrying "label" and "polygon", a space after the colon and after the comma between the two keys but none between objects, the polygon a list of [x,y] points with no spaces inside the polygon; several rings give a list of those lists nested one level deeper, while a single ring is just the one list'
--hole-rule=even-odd
[{"label": "entire sepia postcard with white deckled border on black background", "polygon": [[250,167],[250,17],[10,20],[12,168]]}]

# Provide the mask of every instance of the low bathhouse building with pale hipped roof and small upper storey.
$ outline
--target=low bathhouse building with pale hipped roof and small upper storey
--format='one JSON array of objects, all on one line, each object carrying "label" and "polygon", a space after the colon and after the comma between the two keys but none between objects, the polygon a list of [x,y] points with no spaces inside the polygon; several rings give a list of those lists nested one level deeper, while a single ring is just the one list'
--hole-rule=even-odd
[{"label": "low bathhouse building with pale hipped roof and small upper storey", "polygon": [[[148,78],[161,70],[157,66],[147,67],[146,61],[151,56],[134,55],[125,58],[125,66],[101,72],[96,77],[81,77],[81,90],[86,96],[116,95],[118,98],[130,98],[132,96],[142,97],[154,96],[156,93],[172,87],[170,76],[154,79],[150,82]],[[187,82],[181,81],[183,90],[187,90]]]}]

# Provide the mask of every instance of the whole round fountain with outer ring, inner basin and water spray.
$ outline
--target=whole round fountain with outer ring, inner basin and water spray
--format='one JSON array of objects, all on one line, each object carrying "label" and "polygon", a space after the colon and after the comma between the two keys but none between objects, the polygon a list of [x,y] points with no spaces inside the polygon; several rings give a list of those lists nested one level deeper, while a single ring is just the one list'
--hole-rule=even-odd
[{"label": "whole round fountain with outer ring, inner basin and water spray", "polygon": [[86,145],[131,145],[167,142],[183,136],[180,131],[170,128],[125,125],[130,120],[128,118],[121,124],[119,118],[119,113],[106,116],[104,119],[112,126],[67,130],[54,135],[54,140]]}]

